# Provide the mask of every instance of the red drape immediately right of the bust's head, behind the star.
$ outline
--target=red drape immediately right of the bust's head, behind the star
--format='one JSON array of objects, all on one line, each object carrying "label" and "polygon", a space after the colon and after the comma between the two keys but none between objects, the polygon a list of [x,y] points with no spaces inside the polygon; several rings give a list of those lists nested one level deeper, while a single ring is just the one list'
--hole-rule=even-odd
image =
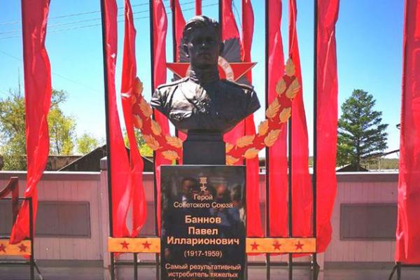
[{"label": "red drape immediately right of the bust's head, behind the star", "polygon": [[[239,50],[241,50],[241,45],[239,41],[239,31],[237,24],[235,22],[235,16],[233,15],[232,10],[232,0],[222,0],[222,40],[226,41],[233,39],[233,43],[237,44]],[[226,45],[225,45],[226,47]],[[240,59],[241,53],[238,53]],[[233,62],[233,61],[230,61]],[[235,143],[239,137],[245,135],[245,121],[241,121],[233,130],[226,133],[223,136],[223,140],[227,143]],[[240,164],[240,162],[238,162]]]}]

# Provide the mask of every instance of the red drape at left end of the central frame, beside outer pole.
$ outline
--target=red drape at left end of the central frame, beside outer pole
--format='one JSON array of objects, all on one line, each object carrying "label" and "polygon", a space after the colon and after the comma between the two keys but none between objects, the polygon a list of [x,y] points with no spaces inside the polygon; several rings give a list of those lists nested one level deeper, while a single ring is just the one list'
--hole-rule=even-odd
[{"label": "red drape at left end of the central frame, beside outer pole", "polygon": [[111,161],[113,237],[127,237],[126,218],[130,207],[130,165],[123,140],[116,104],[117,57],[116,0],[104,1],[106,86],[108,87],[109,159]]}]

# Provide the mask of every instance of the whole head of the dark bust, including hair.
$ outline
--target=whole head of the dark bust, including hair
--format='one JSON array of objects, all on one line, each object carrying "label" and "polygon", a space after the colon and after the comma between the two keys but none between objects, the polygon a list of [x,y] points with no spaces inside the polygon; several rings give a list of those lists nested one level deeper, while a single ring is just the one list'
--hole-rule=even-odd
[{"label": "whole head of the dark bust, including hair", "polygon": [[193,69],[216,67],[223,50],[218,22],[205,15],[198,15],[183,29],[183,49]]}]

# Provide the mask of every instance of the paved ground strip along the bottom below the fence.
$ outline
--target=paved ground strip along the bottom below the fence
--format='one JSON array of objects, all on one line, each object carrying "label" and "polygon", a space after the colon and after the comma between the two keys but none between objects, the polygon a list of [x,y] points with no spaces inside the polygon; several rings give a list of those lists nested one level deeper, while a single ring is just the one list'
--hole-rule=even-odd
[{"label": "paved ground strip along the bottom below the fence", "polygon": [[[45,280],[109,280],[109,273],[98,265],[89,267],[40,267]],[[319,280],[387,280],[391,269],[325,269],[319,275]],[[25,280],[29,279],[29,268],[0,265],[1,280]],[[38,276],[36,276],[36,279]],[[118,280],[134,279],[132,268],[121,267],[117,272]],[[249,280],[264,280],[264,267],[250,267],[248,270]],[[272,267],[271,279],[288,279],[288,271],[284,268]],[[396,279],[396,276],[394,276]],[[139,280],[155,280],[155,269],[152,266],[139,269]],[[309,280],[307,269],[297,268],[294,271],[293,280]],[[420,269],[404,268],[402,280],[420,280]]]}]

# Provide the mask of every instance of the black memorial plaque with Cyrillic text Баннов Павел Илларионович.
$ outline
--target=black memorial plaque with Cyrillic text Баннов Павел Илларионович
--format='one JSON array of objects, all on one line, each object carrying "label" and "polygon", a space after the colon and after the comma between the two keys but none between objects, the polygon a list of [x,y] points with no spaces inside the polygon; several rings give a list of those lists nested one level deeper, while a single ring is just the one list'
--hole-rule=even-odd
[{"label": "black memorial plaque with Cyrillic text \u0411\u0430\u043d\u043d\u043e\u0432 \u041f\u0430\u0432\u0435\u043b \u0418\u043b\u043b\u0430\u0440\u0438\u043e\u043d\u043e\u0432\u0438\u0447", "polygon": [[161,182],[161,279],[244,279],[245,168],[162,166]]}]

